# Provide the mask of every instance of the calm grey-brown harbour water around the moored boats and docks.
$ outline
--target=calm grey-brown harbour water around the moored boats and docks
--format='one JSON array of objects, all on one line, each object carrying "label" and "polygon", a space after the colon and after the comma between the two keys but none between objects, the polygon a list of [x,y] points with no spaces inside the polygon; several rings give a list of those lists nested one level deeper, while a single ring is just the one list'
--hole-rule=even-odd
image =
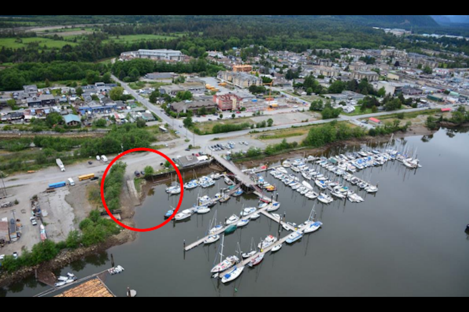
[{"label": "calm grey-brown harbour water around the moored boats and docks", "polygon": [[[277,254],[266,255],[260,266],[246,268],[232,284],[210,277],[218,244],[184,255],[183,241],[204,236],[215,209],[218,221],[223,221],[239,214],[243,205],[256,206],[254,196],[232,198],[208,215],[141,234],[135,242],[74,263],[63,273],[84,277],[103,271],[110,267],[113,254],[116,264],[126,268],[106,281],[118,296],[125,296],[127,286],[139,296],[468,296],[469,235],[464,230],[469,223],[469,134],[441,130],[433,137],[405,140],[418,149],[424,167],[410,171],[399,162],[389,162],[367,169],[364,176],[371,175],[380,191],[366,195],[363,203],[335,200],[325,206],[282,184],[277,213],[285,212],[287,221],[303,222],[316,203],[324,226]],[[186,191],[183,208],[195,203],[198,192],[214,195],[220,187],[225,187],[222,180],[208,191]],[[168,202],[176,204],[177,198],[168,199],[164,188],[155,187],[137,209],[138,227],[155,226]],[[234,254],[238,242],[249,251],[252,237],[257,244],[276,231],[277,224],[262,216],[227,236],[224,254]],[[29,296],[46,289],[29,280],[0,295]]]}]

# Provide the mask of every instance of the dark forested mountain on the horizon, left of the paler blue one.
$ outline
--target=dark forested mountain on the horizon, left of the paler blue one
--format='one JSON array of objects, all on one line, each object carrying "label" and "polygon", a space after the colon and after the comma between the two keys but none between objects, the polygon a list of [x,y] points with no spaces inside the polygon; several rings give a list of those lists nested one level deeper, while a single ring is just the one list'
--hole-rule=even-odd
[{"label": "dark forested mountain on the horizon, left of the paler blue one", "polygon": [[[274,15],[275,16],[275,15]],[[274,17],[273,16],[273,17]],[[438,26],[429,15],[278,15],[283,17],[317,20],[343,20],[369,26],[410,28],[412,26]]]}]

